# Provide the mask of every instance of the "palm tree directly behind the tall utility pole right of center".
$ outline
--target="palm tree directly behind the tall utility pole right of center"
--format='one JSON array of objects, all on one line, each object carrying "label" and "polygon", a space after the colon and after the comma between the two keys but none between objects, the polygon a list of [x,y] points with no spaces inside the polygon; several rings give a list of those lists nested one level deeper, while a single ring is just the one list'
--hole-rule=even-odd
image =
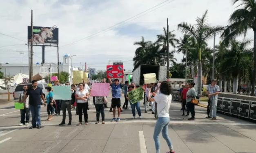
[{"label": "palm tree directly behind the tall utility pole right of center", "polygon": [[172,33],[172,32],[174,32],[174,31],[169,31],[169,38],[167,37],[167,30],[166,30],[166,28],[165,27],[163,27],[163,34],[161,34],[161,35],[157,35],[157,43],[159,43],[159,44],[162,44],[163,45],[163,52],[164,52],[164,55],[163,55],[163,63],[167,63],[166,61],[167,61],[167,55],[168,55],[168,53],[167,53],[167,41],[168,41],[168,39],[169,39],[169,44],[171,44],[171,46],[173,46],[174,48],[176,47],[176,43],[178,43],[179,42],[179,40],[178,39],[176,39],[176,35],[174,34],[174,33]]}]

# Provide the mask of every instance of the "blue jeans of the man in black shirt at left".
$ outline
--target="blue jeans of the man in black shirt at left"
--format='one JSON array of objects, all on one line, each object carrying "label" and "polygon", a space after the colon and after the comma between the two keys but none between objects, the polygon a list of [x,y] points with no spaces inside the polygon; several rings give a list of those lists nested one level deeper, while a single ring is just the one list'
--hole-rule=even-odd
[{"label": "blue jeans of the man in black shirt at left", "polygon": [[41,126],[41,116],[40,116],[40,112],[41,112],[41,105],[29,105],[29,109],[32,115],[32,126],[36,127],[37,126]]}]

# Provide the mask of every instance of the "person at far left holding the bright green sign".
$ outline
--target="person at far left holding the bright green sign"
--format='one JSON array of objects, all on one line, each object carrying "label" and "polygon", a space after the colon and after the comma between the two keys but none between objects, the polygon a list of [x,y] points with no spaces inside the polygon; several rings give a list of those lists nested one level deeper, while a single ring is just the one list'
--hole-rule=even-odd
[{"label": "person at far left holding the bright green sign", "polygon": [[[23,92],[20,93],[19,103],[22,102],[24,96],[27,93],[27,85],[23,86]],[[26,117],[25,117],[26,116]],[[26,118],[26,121],[25,121]],[[24,102],[24,109],[20,109],[20,125],[29,125],[29,98]]]}]

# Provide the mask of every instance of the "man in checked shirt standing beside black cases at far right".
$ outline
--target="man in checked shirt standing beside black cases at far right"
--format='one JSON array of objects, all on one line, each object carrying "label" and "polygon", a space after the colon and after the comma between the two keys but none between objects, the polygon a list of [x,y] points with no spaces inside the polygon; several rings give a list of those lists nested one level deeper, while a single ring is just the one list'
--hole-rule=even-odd
[{"label": "man in checked shirt standing beside black cases at far right", "polygon": [[206,94],[208,95],[211,103],[210,103],[210,114],[206,118],[211,118],[212,120],[216,120],[217,113],[217,100],[218,94],[220,92],[220,87],[216,85],[216,79],[211,80],[211,84],[206,88]]}]

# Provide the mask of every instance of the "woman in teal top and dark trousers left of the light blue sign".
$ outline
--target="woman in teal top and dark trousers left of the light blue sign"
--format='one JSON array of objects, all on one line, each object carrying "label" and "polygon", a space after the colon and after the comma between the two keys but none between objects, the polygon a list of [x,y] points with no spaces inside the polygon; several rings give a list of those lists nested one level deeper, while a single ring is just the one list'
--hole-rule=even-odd
[{"label": "woman in teal top and dark trousers left of the light blue sign", "polygon": [[48,114],[48,118],[46,120],[52,120],[52,114],[54,111],[54,107],[53,107],[53,92],[51,91],[51,87],[47,87],[47,96],[46,96],[46,110],[47,110],[47,114]]}]

